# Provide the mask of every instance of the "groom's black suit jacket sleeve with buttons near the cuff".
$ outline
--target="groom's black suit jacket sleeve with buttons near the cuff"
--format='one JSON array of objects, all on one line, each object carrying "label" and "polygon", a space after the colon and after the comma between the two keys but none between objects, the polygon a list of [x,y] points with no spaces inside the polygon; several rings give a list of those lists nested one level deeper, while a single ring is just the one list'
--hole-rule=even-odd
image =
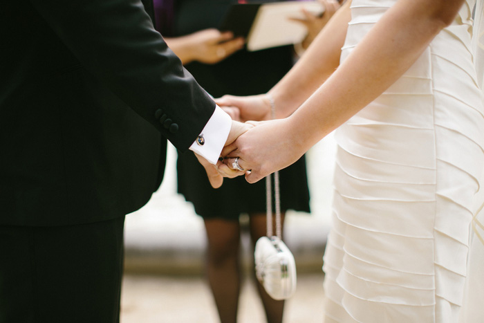
[{"label": "groom's black suit jacket sleeve with buttons near the cuff", "polygon": [[192,145],[215,104],[154,30],[139,0],[31,3],[113,93],[181,151]]}]

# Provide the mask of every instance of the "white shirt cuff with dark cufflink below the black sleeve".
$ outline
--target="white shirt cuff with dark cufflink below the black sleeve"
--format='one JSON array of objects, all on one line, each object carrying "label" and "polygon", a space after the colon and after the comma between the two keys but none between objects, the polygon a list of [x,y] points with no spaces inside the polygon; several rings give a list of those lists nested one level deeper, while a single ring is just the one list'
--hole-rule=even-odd
[{"label": "white shirt cuff with dark cufflink below the black sleeve", "polygon": [[215,165],[225,146],[231,127],[232,118],[216,106],[214,114],[189,149]]}]

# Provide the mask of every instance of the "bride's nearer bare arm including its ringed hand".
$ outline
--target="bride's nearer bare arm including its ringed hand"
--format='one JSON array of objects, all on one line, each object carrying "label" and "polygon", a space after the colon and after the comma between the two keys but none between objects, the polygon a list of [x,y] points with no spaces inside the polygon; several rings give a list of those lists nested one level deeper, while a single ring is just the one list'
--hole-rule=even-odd
[{"label": "bride's nearer bare arm including its ringed hand", "polygon": [[[236,149],[230,156],[240,156],[239,165],[252,169],[250,183],[294,163],[398,80],[440,30],[452,24],[462,4],[463,0],[397,1],[290,118],[254,127],[223,154]],[[284,98],[290,82],[285,86],[274,88],[274,98]]]}]

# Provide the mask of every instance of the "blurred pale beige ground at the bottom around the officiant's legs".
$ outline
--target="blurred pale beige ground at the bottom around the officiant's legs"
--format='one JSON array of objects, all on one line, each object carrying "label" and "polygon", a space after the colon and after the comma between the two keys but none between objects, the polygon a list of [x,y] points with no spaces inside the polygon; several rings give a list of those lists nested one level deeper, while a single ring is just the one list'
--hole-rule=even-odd
[{"label": "blurred pale beige ground at the bottom around the officiant's legs", "polygon": [[[284,323],[323,322],[322,273],[298,275]],[[217,323],[212,294],[202,277],[127,275],[122,286],[121,323]],[[239,323],[266,322],[253,282],[245,280]]]}]

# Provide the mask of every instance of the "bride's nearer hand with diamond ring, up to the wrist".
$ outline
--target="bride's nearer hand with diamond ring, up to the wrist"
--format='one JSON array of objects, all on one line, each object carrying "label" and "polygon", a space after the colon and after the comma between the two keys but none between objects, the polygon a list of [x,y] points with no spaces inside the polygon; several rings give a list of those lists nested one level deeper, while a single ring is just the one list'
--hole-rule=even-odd
[{"label": "bride's nearer hand with diamond ring, up to the wrist", "polygon": [[218,165],[219,169],[235,169],[234,162],[239,157],[237,163],[246,172],[245,179],[255,183],[295,163],[306,152],[296,131],[288,127],[288,119],[249,123],[256,127],[223,149],[224,165]]}]

